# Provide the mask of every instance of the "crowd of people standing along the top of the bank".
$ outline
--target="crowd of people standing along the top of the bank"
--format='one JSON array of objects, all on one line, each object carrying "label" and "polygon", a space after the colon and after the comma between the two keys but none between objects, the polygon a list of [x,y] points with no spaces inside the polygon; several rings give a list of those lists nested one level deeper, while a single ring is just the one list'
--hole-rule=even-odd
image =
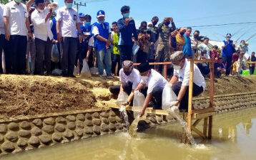
[{"label": "crowd of people standing along the top of the bank", "polygon": [[[164,18],[157,25],[159,18],[154,16],[152,21],[142,21],[137,29],[129,16],[129,6],[122,6],[122,18],[110,26],[104,11],[98,11],[97,22],[91,23],[92,16],[78,14],[72,8],[73,0],[64,2],[56,18],[52,14],[58,4],[49,1],[29,0],[24,4],[13,0],[0,5],[0,50],[4,53],[0,63],[4,61],[5,73],[51,75],[52,70],[59,68],[64,77],[75,77],[74,68],[79,68],[79,74],[86,60],[89,68],[98,68],[101,78],[113,78],[119,75],[124,60],[168,62],[172,53],[183,51],[186,58],[215,60],[217,76],[240,75],[248,43],[241,41],[235,46],[230,33],[222,48],[212,47],[209,38],[200,36],[200,31],[190,36],[192,28],[177,28],[172,17]],[[52,60],[54,45],[58,47],[59,60]],[[255,62],[255,53],[247,61]],[[201,72],[207,73],[201,65]],[[249,68],[252,75],[255,64]],[[154,69],[162,73],[161,65],[155,65]],[[3,73],[2,64],[0,73]]]}]

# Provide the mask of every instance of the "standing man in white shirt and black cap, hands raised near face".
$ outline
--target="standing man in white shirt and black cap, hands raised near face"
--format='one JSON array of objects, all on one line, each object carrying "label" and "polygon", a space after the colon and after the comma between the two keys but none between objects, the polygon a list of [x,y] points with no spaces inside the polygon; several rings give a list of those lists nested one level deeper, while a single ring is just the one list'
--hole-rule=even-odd
[{"label": "standing man in white shirt and black cap, hands raised near face", "polygon": [[45,8],[44,0],[36,0],[35,6],[36,10],[31,14],[31,20],[34,23],[36,37],[36,74],[44,75],[45,66],[46,75],[49,75],[51,73],[51,42],[55,41],[49,23],[52,9]]}]

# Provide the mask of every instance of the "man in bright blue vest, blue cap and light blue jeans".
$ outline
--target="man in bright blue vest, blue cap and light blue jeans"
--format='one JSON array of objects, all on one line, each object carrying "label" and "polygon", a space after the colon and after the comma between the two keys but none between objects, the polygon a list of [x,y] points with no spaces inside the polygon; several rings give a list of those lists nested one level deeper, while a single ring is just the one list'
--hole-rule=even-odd
[{"label": "man in bright blue vest, blue cap and light blue jeans", "polygon": [[97,63],[99,68],[100,78],[106,78],[104,69],[107,73],[107,78],[113,78],[111,73],[111,28],[109,23],[105,22],[105,12],[99,10],[97,12],[98,21],[94,23],[92,33],[94,34],[94,48],[97,55]]}]

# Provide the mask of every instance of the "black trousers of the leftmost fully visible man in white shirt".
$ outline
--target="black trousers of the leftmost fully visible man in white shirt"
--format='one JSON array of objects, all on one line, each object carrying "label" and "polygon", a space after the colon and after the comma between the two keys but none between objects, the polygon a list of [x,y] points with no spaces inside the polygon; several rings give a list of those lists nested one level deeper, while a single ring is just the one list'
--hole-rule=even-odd
[{"label": "black trousers of the leftmost fully visible man in white shirt", "polygon": [[26,73],[26,36],[11,35],[6,41],[6,73],[24,74]]}]

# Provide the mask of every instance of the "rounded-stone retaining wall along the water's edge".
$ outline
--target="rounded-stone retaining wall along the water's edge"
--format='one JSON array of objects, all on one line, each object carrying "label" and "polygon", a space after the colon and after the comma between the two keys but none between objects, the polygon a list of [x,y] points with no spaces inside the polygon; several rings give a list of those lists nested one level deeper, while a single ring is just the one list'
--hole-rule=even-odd
[{"label": "rounded-stone retaining wall along the water's edge", "polygon": [[[256,107],[256,92],[215,96],[214,101],[218,112]],[[206,108],[209,99],[195,98],[193,104],[195,109]],[[129,122],[132,122],[132,112],[128,114]],[[147,119],[139,122],[138,130],[169,122],[175,122],[175,119],[167,116],[164,120],[161,115],[147,114]],[[104,108],[0,119],[0,156],[124,131],[127,128],[119,110]]]}]

